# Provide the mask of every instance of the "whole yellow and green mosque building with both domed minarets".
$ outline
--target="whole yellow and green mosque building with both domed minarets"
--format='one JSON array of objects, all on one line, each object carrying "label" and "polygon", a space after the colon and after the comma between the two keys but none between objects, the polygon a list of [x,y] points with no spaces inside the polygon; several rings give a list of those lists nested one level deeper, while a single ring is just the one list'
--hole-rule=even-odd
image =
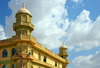
[{"label": "whole yellow and green mosque building with both domed minarets", "polygon": [[68,68],[67,47],[62,44],[55,54],[31,35],[34,25],[31,14],[23,7],[15,15],[12,38],[0,40],[0,68]]}]

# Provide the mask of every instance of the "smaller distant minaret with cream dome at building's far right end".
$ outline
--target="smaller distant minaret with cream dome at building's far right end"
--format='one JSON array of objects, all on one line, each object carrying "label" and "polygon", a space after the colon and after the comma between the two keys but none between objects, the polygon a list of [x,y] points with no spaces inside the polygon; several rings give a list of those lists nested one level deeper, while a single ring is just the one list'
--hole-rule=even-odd
[{"label": "smaller distant minaret with cream dome at building's far right end", "polygon": [[[58,55],[67,60],[67,56],[69,54],[67,53],[67,47],[64,45],[64,42],[62,43],[62,46],[60,46],[59,48]],[[67,64],[69,64],[69,60],[67,62],[68,62]],[[67,68],[67,64],[63,64],[63,68]]]}]

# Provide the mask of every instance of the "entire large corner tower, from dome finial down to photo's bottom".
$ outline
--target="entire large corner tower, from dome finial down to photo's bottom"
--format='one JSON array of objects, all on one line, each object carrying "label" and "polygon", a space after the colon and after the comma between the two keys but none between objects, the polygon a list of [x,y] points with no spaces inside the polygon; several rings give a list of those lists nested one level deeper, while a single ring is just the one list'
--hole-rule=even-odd
[{"label": "entire large corner tower, from dome finial down to photo's bottom", "polygon": [[[16,32],[16,55],[13,60],[16,61],[16,68],[31,68],[30,62],[33,59],[32,46],[35,45],[35,38],[31,35],[34,25],[31,23],[31,14],[23,7],[15,15],[16,22],[13,23],[13,30]],[[18,40],[17,40],[18,39]]]}]

